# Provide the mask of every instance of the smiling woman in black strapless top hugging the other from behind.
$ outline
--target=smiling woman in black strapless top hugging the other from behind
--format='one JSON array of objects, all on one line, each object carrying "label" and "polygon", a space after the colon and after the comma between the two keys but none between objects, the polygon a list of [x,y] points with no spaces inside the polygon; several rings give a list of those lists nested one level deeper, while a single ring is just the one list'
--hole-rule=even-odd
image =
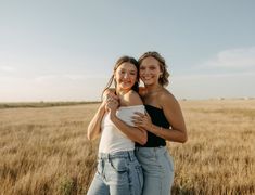
[{"label": "smiling woman in black strapless top hugging the other from behind", "polygon": [[165,60],[157,52],[139,58],[139,75],[144,83],[140,95],[146,114],[137,113],[133,122],[148,131],[148,142],[136,144],[136,155],[143,168],[143,195],[169,195],[174,182],[174,162],[167,141],[184,143],[187,130],[178,101],[164,87],[168,84]]}]

